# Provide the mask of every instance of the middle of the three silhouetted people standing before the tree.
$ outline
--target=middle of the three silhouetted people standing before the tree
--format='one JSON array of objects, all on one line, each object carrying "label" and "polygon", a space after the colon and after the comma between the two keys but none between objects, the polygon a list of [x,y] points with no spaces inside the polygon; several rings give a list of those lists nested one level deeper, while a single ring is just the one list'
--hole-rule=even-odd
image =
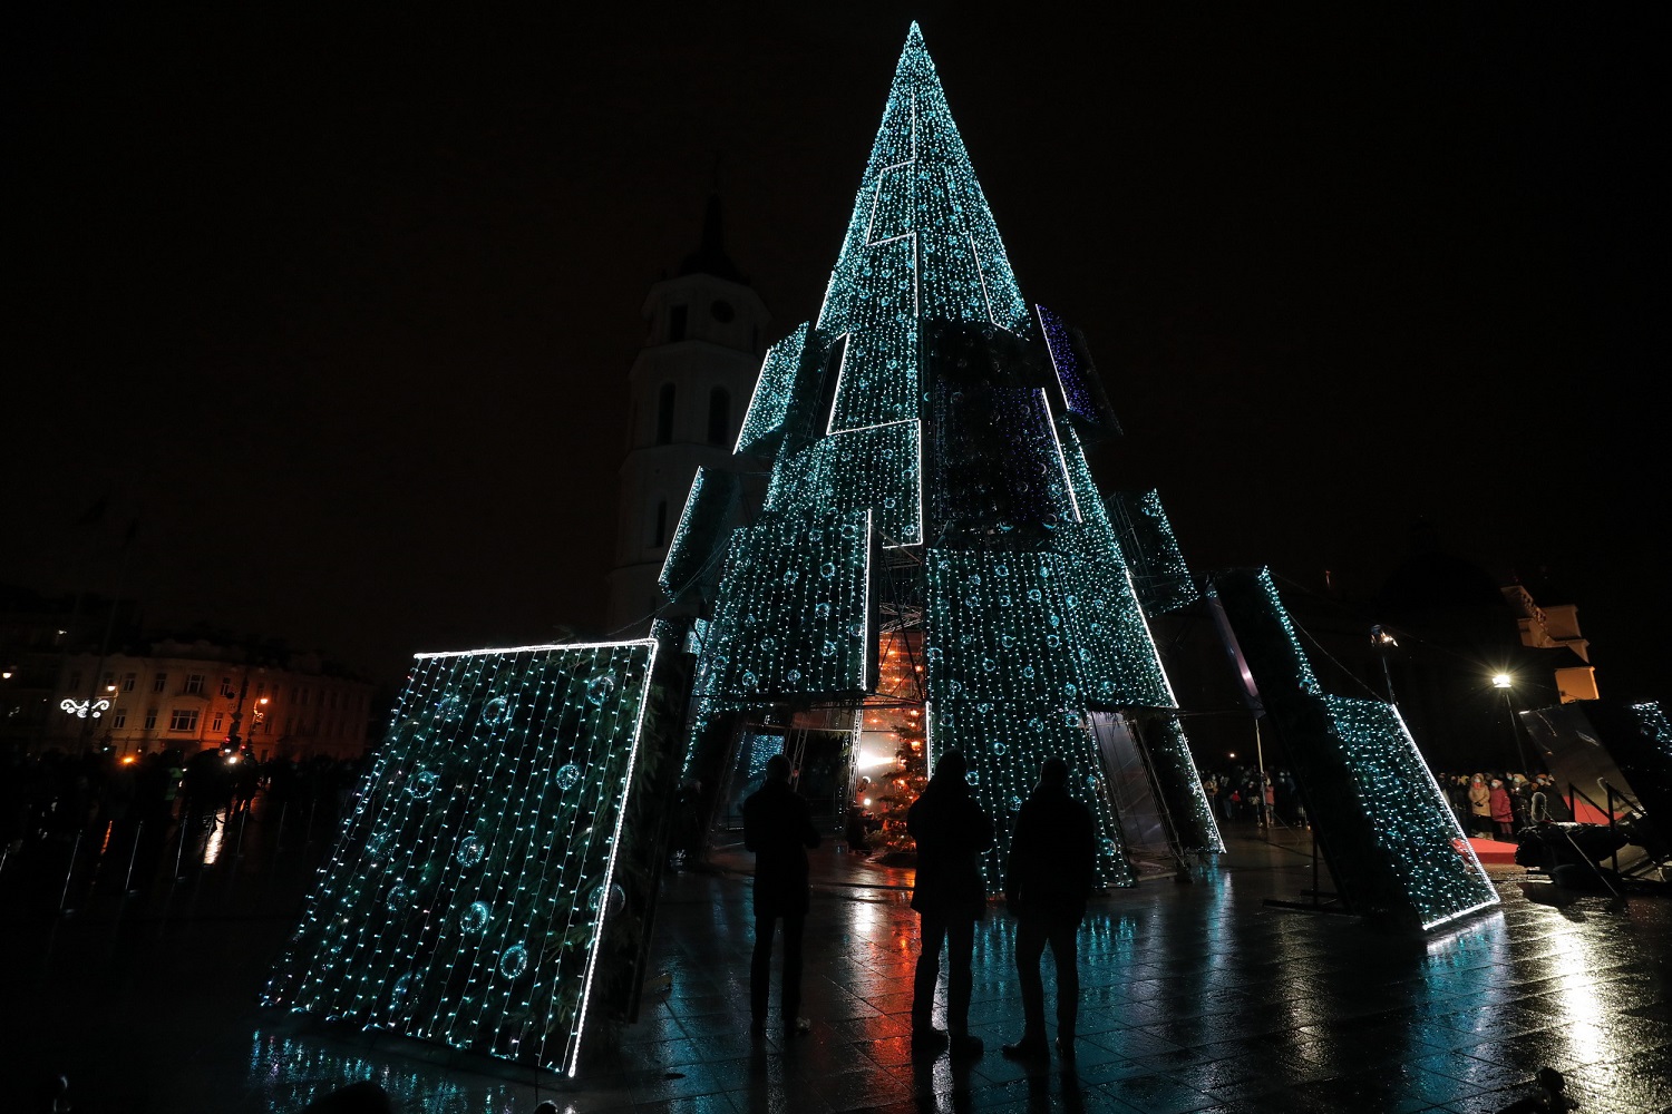
[{"label": "middle of the three silhouetted people standing before the tree", "polygon": [[[906,813],[906,830],[918,843],[911,909],[918,910],[918,970],[911,994],[911,1047],[955,1059],[978,1059],[981,1039],[970,1036],[970,992],[975,922],[986,914],[981,852],[993,845],[993,822],[970,795],[968,763],[956,750],[941,755],[923,795]],[[935,1027],[935,985],[946,945],[946,1030]]]}]

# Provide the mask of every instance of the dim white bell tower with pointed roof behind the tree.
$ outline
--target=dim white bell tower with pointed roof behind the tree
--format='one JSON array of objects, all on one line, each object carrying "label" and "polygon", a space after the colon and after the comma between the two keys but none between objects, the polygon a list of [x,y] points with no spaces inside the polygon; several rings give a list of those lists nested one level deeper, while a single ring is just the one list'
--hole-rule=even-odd
[{"label": "dim white bell tower with pointed roof behind the tree", "polygon": [[[721,199],[709,197],[702,242],[644,301],[645,346],[629,372],[632,418],[620,466],[615,566],[605,630],[649,631],[667,543],[699,466],[731,468],[769,314],[721,242]],[[615,635],[619,631],[619,635]]]}]

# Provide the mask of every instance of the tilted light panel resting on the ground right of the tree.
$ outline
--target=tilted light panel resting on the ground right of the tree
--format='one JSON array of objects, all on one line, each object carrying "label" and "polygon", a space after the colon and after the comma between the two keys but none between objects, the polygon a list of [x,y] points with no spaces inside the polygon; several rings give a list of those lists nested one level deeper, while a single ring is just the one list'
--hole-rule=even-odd
[{"label": "tilted light panel resting on the ground right of the tree", "polygon": [[1267,571],[1222,573],[1211,598],[1282,733],[1319,850],[1349,907],[1428,930],[1496,905],[1398,710],[1324,693]]}]

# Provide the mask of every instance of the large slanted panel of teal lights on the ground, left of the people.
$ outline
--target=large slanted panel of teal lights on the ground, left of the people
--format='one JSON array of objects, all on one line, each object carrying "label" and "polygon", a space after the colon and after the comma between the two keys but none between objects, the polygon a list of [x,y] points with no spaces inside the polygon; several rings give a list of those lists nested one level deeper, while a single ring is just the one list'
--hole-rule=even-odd
[{"label": "large slanted panel of teal lights on the ground, left of the people", "polygon": [[418,655],[263,1002],[573,1076],[654,663]]}]

